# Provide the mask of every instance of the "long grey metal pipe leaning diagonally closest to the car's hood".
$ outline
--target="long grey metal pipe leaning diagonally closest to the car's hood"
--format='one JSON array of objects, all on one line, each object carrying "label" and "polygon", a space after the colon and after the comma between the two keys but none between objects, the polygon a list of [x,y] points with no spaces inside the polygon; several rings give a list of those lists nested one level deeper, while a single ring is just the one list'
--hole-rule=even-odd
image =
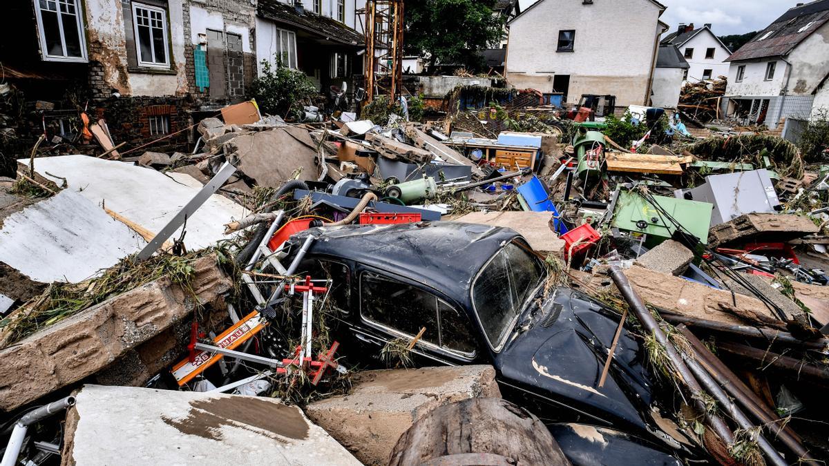
[{"label": "long grey metal pipe leaning diagonally closest to the car's hood", "polygon": [[633,287],[628,281],[628,277],[625,276],[623,271],[619,269],[617,265],[610,266],[610,277],[613,279],[613,283],[616,284],[616,287],[619,289],[619,292],[622,294],[624,300],[630,305],[633,313],[636,314],[639,322],[642,323],[642,327],[645,328],[647,332],[652,333],[653,336],[657,338],[657,342],[665,348],[667,356],[671,360],[674,368],[676,368],[676,371],[679,372],[682,380],[685,381],[686,386],[688,386],[694,395],[692,398],[696,403],[697,409],[705,413],[705,417],[708,418],[711,428],[717,435],[720,436],[720,439],[723,439],[726,444],[731,444],[734,441],[734,434],[731,433],[728,425],[725,424],[725,421],[722,420],[719,415],[708,412],[705,407],[705,401],[702,399],[702,396],[700,396],[702,392],[700,383],[696,381],[696,378],[694,378],[691,370],[688,369],[688,366],[686,366],[685,362],[682,361],[682,357],[678,352],[676,352],[676,348],[673,344],[668,341],[667,335],[662,332],[662,328],[659,328],[659,324],[657,324],[656,319],[653,318],[651,313],[647,310],[645,303],[642,303],[642,299],[639,298],[639,295],[635,291],[633,291]]}]

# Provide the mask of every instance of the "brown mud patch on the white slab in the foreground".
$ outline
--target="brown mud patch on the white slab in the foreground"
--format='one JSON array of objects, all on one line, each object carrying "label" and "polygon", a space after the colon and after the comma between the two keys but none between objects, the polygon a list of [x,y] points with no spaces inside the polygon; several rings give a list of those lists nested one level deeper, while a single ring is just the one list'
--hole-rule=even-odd
[{"label": "brown mud patch on the white slab in the foreground", "polygon": [[194,400],[190,405],[186,418],[173,420],[163,417],[162,420],[182,434],[212,440],[222,439],[223,425],[250,430],[282,442],[285,438],[308,438],[308,422],[302,411],[291,406],[242,396]]}]

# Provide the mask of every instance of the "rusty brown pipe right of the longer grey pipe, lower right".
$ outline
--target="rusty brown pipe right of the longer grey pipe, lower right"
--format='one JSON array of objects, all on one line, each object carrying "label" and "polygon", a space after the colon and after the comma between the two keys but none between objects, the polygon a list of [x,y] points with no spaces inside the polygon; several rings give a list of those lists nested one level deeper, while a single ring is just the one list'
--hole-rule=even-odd
[{"label": "rusty brown pipe right of the longer grey pipe, lower right", "polygon": [[794,454],[797,454],[797,457],[800,460],[817,466],[817,462],[812,459],[807,450],[803,448],[802,444],[800,444],[800,441],[794,436],[791,429],[784,423],[778,424],[779,419],[775,419],[772,415],[768,414],[768,410],[770,409],[765,403],[760,401],[754,393],[750,393],[750,395],[749,393],[744,393],[742,389],[748,391],[748,387],[744,386],[743,382],[740,381],[736,375],[734,375],[734,372],[730,371],[728,367],[725,367],[725,364],[722,364],[720,359],[712,354],[696,337],[696,335],[691,333],[691,330],[684,325],[680,325],[676,329],[685,335],[688,343],[691,344],[694,352],[696,352],[695,357],[697,360],[701,362],[701,365],[705,368],[705,371],[707,371],[710,376],[714,377],[715,381],[717,381],[720,386],[725,388],[725,391],[728,391],[735,400],[739,401],[740,405],[743,405],[746,410],[749,410],[751,415],[754,415],[754,418],[759,420],[765,427],[771,430],[772,434],[777,435],[778,438],[783,441],[783,444],[788,447],[788,449],[792,450]]}]

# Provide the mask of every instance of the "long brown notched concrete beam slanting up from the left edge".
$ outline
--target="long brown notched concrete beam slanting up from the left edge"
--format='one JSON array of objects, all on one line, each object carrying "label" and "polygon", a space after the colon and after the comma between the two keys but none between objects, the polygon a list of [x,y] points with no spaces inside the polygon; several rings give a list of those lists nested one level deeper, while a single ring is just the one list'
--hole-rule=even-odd
[{"label": "long brown notched concrete beam slanting up from the left edge", "polygon": [[[233,283],[208,255],[192,262],[191,289],[213,303]],[[193,294],[163,277],[107,299],[0,350],[0,410],[80,381],[186,318]]]}]

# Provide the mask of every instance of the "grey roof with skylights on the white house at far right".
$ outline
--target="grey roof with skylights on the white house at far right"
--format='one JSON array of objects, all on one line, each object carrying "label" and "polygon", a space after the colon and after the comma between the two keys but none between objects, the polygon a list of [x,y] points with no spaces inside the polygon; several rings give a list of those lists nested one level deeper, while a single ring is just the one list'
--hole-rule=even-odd
[{"label": "grey roof with skylights on the white house at far right", "polygon": [[[829,20],[829,0],[790,8],[725,61],[787,56],[794,47]],[[810,24],[811,23],[811,24]]]}]

